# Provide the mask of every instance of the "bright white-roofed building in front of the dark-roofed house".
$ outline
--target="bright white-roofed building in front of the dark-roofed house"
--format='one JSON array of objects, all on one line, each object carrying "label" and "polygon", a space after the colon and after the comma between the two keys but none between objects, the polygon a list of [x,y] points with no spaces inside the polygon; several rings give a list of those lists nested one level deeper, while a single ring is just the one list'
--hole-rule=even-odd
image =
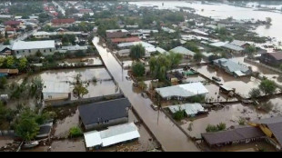
[{"label": "bright white-roofed building in front of the dark-roofed house", "polygon": [[84,133],[86,140],[86,148],[93,150],[94,148],[107,147],[116,143],[124,143],[136,140],[140,137],[138,128],[135,123],[126,123],[109,127],[105,131]]}]

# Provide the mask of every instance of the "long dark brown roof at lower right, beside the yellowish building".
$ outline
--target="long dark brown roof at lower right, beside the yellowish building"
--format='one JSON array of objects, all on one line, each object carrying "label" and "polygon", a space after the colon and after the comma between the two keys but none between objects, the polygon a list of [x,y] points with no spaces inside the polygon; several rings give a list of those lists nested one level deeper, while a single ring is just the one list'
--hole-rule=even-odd
[{"label": "long dark brown roof at lower right, beside the yellowish building", "polygon": [[215,145],[217,143],[230,143],[246,139],[266,136],[259,128],[253,126],[242,126],[233,130],[218,133],[202,133],[206,143]]}]

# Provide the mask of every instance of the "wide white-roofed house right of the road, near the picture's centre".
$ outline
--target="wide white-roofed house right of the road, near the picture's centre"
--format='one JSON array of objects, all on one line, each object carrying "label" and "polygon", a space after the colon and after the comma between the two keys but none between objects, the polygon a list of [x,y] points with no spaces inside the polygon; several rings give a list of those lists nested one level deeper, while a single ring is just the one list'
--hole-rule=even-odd
[{"label": "wide white-roofed house right of the road, near the picture's centre", "polygon": [[179,84],[165,88],[156,88],[156,93],[163,99],[187,99],[196,95],[206,95],[208,90],[202,83]]}]

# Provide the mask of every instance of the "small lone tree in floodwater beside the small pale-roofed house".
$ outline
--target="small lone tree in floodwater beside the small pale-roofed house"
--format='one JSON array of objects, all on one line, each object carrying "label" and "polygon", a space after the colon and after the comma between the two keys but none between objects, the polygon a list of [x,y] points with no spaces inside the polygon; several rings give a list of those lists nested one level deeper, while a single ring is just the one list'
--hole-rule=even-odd
[{"label": "small lone tree in floodwater beside the small pale-roofed house", "polygon": [[77,74],[75,77],[75,82],[72,83],[75,87],[73,93],[82,98],[84,95],[88,94],[87,85],[81,80],[81,74]]}]

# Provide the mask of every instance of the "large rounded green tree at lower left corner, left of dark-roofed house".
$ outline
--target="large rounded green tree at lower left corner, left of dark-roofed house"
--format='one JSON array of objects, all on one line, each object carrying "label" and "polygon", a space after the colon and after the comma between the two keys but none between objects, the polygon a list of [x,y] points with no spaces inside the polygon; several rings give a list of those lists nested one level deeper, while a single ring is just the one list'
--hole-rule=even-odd
[{"label": "large rounded green tree at lower left corner, left of dark-roofed house", "polygon": [[16,124],[15,133],[21,137],[24,141],[31,141],[35,139],[35,136],[39,132],[39,125],[35,121],[36,114],[30,109],[25,109],[20,114]]}]

